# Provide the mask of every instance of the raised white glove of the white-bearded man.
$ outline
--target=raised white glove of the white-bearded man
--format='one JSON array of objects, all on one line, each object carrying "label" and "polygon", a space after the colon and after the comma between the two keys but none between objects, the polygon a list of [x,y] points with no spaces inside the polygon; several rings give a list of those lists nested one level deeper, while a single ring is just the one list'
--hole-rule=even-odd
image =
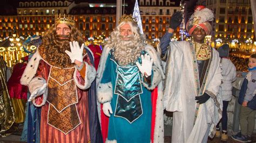
[{"label": "raised white glove of the white-bearded man", "polygon": [[137,67],[139,68],[139,71],[143,74],[145,74],[146,77],[151,76],[152,73],[152,65],[153,65],[153,59],[150,58],[149,54],[141,55],[142,57],[142,65],[139,64],[139,62],[136,62]]}]

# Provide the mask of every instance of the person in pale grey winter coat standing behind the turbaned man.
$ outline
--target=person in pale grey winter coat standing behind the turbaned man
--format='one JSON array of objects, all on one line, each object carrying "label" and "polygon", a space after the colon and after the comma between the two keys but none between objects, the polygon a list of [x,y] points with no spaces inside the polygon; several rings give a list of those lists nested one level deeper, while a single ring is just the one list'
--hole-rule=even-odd
[{"label": "person in pale grey winter coat standing behind the turbaned man", "polygon": [[222,112],[222,119],[221,119],[221,127],[222,127],[222,134],[220,135],[219,124],[216,126],[216,134],[215,137],[220,137],[221,140],[227,140],[227,105],[228,102],[232,99],[232,82],[236,80],[237,72],[235,71],[235,66],[230,59],[228,59],[230,47],[227,44],[219,47],[217,50],[219,52],[219,56],[221,58],[221,69],[223,76],[223,83],[221,84],[221,88],[219,94],[223,98],[223,112]]}]

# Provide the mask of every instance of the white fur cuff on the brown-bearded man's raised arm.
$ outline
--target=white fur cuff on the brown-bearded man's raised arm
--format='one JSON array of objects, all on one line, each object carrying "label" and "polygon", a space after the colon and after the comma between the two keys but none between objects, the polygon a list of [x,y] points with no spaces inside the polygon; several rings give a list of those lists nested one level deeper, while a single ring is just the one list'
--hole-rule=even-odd
[{"label": "white fur cuff on the brown-bearded man's raised arm", "polygon": [[78,88],[80,89],[87,89],[91,87],[92,82],[95,80],[96,77],[96,70],[93,66],[89,65],[87,62],[84,62],[86,66],[86,70],[85,70],[85,77],[84,77],[84,85],[82,85],[81,83],[79,83],[78,79],[77,79],[77,68],[75,69],[74,72],[74,81],[77,85]]}]

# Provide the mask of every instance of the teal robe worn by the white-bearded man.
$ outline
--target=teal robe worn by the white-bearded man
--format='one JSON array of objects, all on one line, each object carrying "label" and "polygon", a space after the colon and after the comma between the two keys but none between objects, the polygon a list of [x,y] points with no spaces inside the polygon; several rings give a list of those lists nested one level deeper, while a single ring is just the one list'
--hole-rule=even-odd
[{"label": "teal robe worn by the white-bearded man", "polygon": [[[141,63],[141,59],[139,58],[138,60]],[[127,68],[127,67],[124,67],[124,68]],[[111,82],[112,88],[113,88],[113,97],[111,100],[111,108],[112,108],[113,114],[109,118],[109,131],[107,135],[107,140],[117,140],[117,142],[139,142],[139,143],[150,142],[151,112],[152,112],[151,91],[147,90],[142,83],[140,83],[142,94],[139,94],[139,91],[138,91],[137,93],[138,95],[135,94],[134,96],[134,94],[132,94],[133,95],[132,97],[127,97],[128,95],[123,95],[124,98],[131,99],[131,100],[132,98],[135,98],[135,97],[140,98],[140,103],[142,105],[142,115],[140,115],[138,118],[132,121],[129,121],[123,117],[115,116],[118,96],[120,96],[120,95],[114,94],[116,83],[119,80],[117,79],[117,76],[118,76],[117,72],[119,72],[118,68],[122,68],[122,67],[119,66],[118,63],[113,59],[113,56],[110,52],[106,60],[106,65],[105,65],[105,70],[103,73],[102,80],[100,81],[100,83]],[[143,78],[142,78],[142,74],[140,74],[140,71],[138,70],[138,67],[135,65],[135,66],[131,66],[131,68],[133,68],[133,71],[130,71],[130,75],[134,75],[136,74],[136,71],[138,71],[139,76],[137,76],[137,78],[139,79],[137,79],[137,81],[139,80],[141,82]],[[119,75],[118,77],[121,77],[121,76]],[[151,79],[152,77],[153,77],[153,74],[151,76]],[[130,85],[125,84],[123,85],[123,89],[125,89],[125,87],[129,87],[129,89],[131,89],[133,84],[134,83]],[[133,108],[133,106],[131,108]]]}]

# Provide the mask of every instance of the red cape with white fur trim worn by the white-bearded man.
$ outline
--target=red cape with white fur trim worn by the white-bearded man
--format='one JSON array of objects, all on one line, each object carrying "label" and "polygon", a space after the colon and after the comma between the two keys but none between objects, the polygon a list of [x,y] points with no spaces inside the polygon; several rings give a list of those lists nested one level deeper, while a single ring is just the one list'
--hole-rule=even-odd
[{"label": "red cape with white fur trim worn by the white-bearded man", "polygon": [[[111,47],[105,46],[103,49],[102,57],[100,59],[98,71],[97,71],[97,98],[99,103],[109,102],[112,99],[113,91],[112,91],[112,83],[105,83],[100,84],[102,81],[103,73],[106,66],[107,57],[111,51]],[[150,46],[146,45],[144,51],[150,55],[153,59],[153,67],[152,67],[152,82],[151,87],[147,85],[147,83],[143,83],[143,86],[151,91],[151,99],[152,99],[152,119],[151,119],[151,142],[164,142],[164,104],[163,104],[163,90],[162,90],[162,80],[165,78],[163,69],[161,68],[161,63],[159,56],[155,49]],[[100,88],[99,88],[100,87]],[[99,107],[99,106],[98,106]],[[105,141],[107,138],[107,130],[108,130],[108,119],[104,113],[102,112],[102,108],[98,108],[101,111],[100,121],[102,125],[102,133],[103,133],[103,140]],[[113,112],[114,109],[112,108]],[[114,114],[114,113],[113,113]],[[124,128],[125,130],[125,128]],[[109,140],[107,140],[109,141]],[[129,141],[129,138],[127,138]]]}]

